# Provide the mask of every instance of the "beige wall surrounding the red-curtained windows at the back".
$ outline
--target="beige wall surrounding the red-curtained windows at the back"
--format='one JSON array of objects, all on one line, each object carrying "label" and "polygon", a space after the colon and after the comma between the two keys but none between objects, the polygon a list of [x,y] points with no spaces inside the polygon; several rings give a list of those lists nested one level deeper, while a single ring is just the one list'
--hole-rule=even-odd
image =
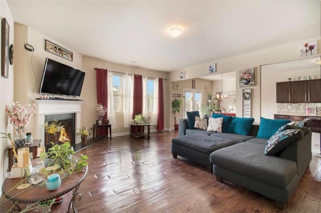
[{"label": "beige wall surrounding the red-curtained windows at the back", "polygon": [[[82,70],[86,72],[85,81],[82,89],[82,99],[86,101],[85,104],[82,105],[82,125],[90,127],[93,123],[98,119],[96,114],[96,103],[97,103],[97,92],[96,92],[96,71],[95,67],[98,68],[106,68],[112,71],[118,72],[127,72],[127,73],[135,73],[142,74],[148,77],[162,77],[168,78],[168,72],[163,71],[154,71],[143,69],[139,67],[132,67],[121,65],[117,63],[111,63],[102,59],[83,56],[82,59]],[[163,80],[163,88],[164,88],[164,128],[169,129],[169,80]],[[116,112],[116,122],[117,128],[112,129],[112,135],[117,136],[121,134],[128,134],[129,128],[124,127],[123,122],[123,112]],[[151,130],[155,130],[156,126],[152,125]]]}]

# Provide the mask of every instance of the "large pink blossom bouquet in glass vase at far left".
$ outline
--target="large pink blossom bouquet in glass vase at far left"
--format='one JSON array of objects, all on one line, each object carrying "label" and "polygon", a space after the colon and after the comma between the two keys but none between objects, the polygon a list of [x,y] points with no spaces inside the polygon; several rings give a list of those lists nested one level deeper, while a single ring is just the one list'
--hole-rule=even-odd
[{"label": "large pink blossom bouquet in glass vase at far left", "polygon": [[6,105],[6,112],[11,124],[14,125],[17,131],[25,131],[30,118],[36,111],[35,104],[21,105],[19,102],[11,102]]}]

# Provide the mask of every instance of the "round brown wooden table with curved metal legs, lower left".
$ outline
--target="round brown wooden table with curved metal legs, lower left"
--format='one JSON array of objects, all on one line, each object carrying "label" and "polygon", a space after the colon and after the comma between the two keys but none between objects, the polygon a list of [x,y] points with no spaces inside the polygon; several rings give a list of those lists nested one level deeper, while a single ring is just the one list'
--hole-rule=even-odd
[{"label": "round brown wooden table with curved metal legs, lower left", "polygon": [[[33,159],[31,162],[34,165],[40,161],[40,158]],[[73,172],[67,177],[61,178],[61,185],[56,190],[48,190],[45,186],[45,180],[39,183],[38,185],[30,185],[28,188],[25,189],[17,189],[18,183],[21,181],[21,178],[6,178],[2,184],[2,191],[5,194],[6,198],[10,199],[15,204],[15,207],[21,211],[23,210],[18,203],[34,203],[37,201],[46,201],[51,200],[57,196],[64,195],[69,191],[72,191],[72,197],[69,202],[68,210],[64,210],[64,212],[71,212],[72,209],[74,212],[77,212],[75,206],[75,198],[79,196],[79,200],[81,199],[81,194],[77,192],[80,183],[85,179],[88,165],[84,168],[84,171]],[[13,189],[12,189],[13,188]],[[12,190],[11,190],[12,189]],[[68,196],[68,195],[67,195]],[[70,196],[69,196],[70,197]],[[63,202],[68,202],[66,197],[64,198]],[[58,208],[58,206],[53,206],[54,208]]]}]

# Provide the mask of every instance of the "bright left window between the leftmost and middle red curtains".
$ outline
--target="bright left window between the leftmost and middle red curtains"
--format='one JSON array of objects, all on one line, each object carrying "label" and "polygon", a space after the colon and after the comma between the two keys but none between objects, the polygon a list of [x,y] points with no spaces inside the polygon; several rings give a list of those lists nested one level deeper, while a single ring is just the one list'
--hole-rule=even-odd
[{"label": "bright left window between the leftmost and middle red curtains", "polygon": [[113,74],[112,89],[114,98],[114,111],[123,111],[124,80],[122,75]]}]

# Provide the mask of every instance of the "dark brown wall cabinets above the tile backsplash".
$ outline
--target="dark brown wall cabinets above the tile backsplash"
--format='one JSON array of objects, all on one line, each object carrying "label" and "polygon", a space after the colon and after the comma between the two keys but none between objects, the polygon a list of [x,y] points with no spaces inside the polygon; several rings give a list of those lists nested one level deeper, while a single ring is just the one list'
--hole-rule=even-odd
[{"label": "dark brown wall cabinets above the tile backsplash", "polygon": [[321,79],[276,83],[277,103],[321,102]]}]

